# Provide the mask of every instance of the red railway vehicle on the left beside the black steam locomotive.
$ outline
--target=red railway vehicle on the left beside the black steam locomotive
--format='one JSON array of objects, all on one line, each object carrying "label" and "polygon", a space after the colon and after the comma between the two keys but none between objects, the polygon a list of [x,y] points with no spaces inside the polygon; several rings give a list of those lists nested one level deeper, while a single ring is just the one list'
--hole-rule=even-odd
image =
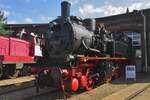
[{"label": "red railway vehicle on the left beside the black steam locomotive", "polygon": [[18,75],[18,73],[26,74],[26,69],[29,71],[30,67],[35,66],[35,58],[41,56],[36,40],[37,38],[30,34],[23,34],[21,39],[0,36],[1,78],[8,78],[8,76]]}]

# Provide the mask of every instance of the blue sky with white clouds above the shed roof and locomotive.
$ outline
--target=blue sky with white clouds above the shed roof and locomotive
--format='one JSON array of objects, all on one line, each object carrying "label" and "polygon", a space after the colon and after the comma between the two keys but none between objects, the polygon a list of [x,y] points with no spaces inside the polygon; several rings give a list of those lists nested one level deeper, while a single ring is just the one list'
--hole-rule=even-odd
[{"label": "blue sky with white clouds above the shed roof and locomotive", "polygon": [[[62,0],[0,0],[0,9],[5,12],[8,23],[46,23],[60,15]],[[145,9],[150,0],[67,0],[71,15],[82,18],[103,17],[124,13],[127,8]]]}]

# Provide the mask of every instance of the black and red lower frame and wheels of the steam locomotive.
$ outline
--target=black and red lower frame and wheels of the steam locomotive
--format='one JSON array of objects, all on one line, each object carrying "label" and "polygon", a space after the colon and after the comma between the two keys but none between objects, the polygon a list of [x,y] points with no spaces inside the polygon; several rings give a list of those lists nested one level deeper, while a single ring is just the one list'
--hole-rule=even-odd
[{"label": "black and red lower frame and wheels of the steam locomotive", "polygon": [[[76,64],[71,67],[46,67],[36,77],[36,88],[51,86],[62,91],[76,92],[79,89],[92,90],[103,82],[111,83],[113,79],[119,78],[124,73],[124,66],[128,58],[123,57],[88,57],[77,56]],[[102,63],[104,64],[103,66]],[[106,70],[108,69],[108,70]],[[105,72],[103,75],[101,72]],[[96,72],[95,72],[96,71]],[[94,72],[94,73],[93,73]],[[101,79],[98,79],[99,76]]]}]

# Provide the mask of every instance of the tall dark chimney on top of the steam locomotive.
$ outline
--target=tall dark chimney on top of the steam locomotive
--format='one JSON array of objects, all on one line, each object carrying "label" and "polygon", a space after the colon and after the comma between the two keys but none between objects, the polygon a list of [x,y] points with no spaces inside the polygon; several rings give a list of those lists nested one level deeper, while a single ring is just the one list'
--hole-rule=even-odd
[{"label": "tall dark chimney on top of the steam locomotive", "polygon": [[70,16],[71,4],[67,1],[62,1],[61,3],[61,17],[68,18]]}]

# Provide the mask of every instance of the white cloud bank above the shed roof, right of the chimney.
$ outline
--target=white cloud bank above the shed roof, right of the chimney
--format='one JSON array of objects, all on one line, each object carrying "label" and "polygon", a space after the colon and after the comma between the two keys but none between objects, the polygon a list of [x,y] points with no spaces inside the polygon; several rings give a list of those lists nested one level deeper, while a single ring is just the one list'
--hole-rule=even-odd
[{"label": "white cloud bank above the shed roof, right of the chimney", "polygon": [[79,12],[84,17],[101,17],[125,13],[127,8],[129,8],[130,12],[150,8],[150,0],[128,0],[128,5],[124,6],[113,5],[109,2],[99,7],[92,4],[84,4],[79,7]]}]

